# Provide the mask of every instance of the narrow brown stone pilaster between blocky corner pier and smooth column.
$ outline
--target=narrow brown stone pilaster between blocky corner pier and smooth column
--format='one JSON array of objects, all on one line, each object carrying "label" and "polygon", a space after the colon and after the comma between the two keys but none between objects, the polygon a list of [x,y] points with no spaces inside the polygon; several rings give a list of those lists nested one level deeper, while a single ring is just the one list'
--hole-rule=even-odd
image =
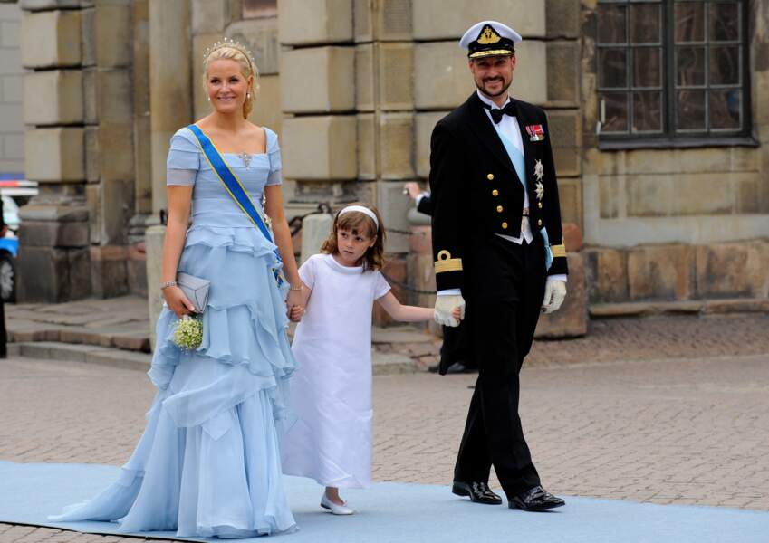
[{"label": "narrow brown stone pilaster between blocky corner pier and smooth column", "polygon": [[129,291],[131,217],[135,214],[131,0],[82,10],[86,80],[86,195],[91,212],[91,285],[108,298]]}]

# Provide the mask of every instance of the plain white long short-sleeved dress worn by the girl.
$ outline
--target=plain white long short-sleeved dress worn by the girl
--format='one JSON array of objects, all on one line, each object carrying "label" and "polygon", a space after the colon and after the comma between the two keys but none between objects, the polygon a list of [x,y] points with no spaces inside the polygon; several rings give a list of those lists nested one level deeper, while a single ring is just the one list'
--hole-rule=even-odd
[{"label": "plain white long short-sleeved dress worn by the girl", "polygon": [[284,436],[283,470],[323,486],[371,484],[371,309],[388,293],[379,271],[315,254],[299,269],[312,289],[292,350],[298,421]]}]

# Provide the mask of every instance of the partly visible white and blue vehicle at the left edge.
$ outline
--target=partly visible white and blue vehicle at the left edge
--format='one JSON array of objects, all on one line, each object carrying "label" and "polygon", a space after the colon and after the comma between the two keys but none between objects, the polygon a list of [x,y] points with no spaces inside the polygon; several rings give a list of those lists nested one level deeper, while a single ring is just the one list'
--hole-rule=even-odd
[{"label": "partly visible white and blue vehicle at the left edge", "polygon": [[4,301],[16,299],[16,257],[19,253],[19,231],[21,218],[19,207],[37,195],[37,183],[19,178],[20,176],[0,175],[0,198],[3,200],[5,232],[0,233],[0,296]]}]

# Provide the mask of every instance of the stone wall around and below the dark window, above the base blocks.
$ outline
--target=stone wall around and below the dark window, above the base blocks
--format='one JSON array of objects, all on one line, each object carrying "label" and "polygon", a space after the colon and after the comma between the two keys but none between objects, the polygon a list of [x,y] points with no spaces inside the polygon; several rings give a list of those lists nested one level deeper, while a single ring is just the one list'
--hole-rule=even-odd
[{"label": "stone wall around and below the dark window, above the base blocks", "polygon": [[594,54],[595,2],[583,2],[582,167],[585,241],[725,243],[769,236],[769,2],[751,2],[755,146],[602,151]]}]

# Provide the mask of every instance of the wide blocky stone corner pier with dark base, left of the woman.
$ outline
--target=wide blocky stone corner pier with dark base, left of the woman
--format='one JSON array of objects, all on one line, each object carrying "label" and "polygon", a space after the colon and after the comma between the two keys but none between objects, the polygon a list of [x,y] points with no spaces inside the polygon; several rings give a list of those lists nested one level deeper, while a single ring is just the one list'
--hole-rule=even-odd
[{"label": "wide blocky stone corner pier with dark base, left of the woman", "polygon": [[[108,297],[130,285],[143,291],[141,266],[129,264],[141,261],[139,250],[130,251],[129,233],[143,205],[135,198],[144,172],[134,152],[133,62],[141,45],[135,24],[146,5],[19,3],[27,69],[24,169],[40,185],[22,209],[20,300]],[[146,187],[140,195],[145,201]],[[130,268],[139,270],[131,280]]]}]

